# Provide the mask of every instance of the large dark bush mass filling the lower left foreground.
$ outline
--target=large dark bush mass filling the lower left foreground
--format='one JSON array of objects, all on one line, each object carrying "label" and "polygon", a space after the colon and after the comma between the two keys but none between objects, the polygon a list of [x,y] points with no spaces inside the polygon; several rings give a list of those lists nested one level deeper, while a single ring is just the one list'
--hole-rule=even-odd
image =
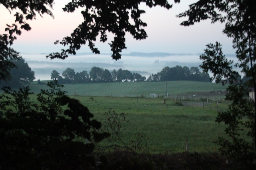
[{"label": "large dark bush mass filling the lower left foreground", "polygon": [[[5,88],[1,96],[0,167],[2,169],[92,169],[94,144],[108,133],[97,133],[101,123],[78,100],[48,82],[49,90],[29,99],[29,88]],[[10,97],[8,97],[10,96]],[[68,108],[62,110],[62,106]]]}]

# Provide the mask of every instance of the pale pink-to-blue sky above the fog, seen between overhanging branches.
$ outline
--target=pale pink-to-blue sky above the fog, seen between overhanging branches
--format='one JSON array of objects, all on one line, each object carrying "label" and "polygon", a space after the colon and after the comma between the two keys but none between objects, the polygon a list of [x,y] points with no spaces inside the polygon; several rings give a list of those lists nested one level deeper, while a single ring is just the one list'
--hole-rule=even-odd
[{"label": "pale pink-to-blue sky above the fog, seen between overhanging branches", "polygon": [[[11,47],[21,52],[21,54],[49,54],[51,52],[60,52],[62,48],[65,49],[65,47],[56,46],[53,43],[56,40],[62,40],[65,36],[69,36],[83,21],[81,10],[77,10],[74,13],[62,11],[61,8],[69,1],[71,0],[55,0],[52,10],[55,18],[53,19],[48,15],[43,15],[43,18],[41,18],[38,15],[36,20],[28,22],[32,29],[28,32],[23,30],[21,36],[17,36],[17,40],[14,41]],[[127,33],[127,50],[124,50],[123,53],[165,52],[197,54],[204,52],[206,44],[219,41],[223,45],[224,54],[235,54],[232,49],[232,40],[222,33],[224,24],[211,24],[211,21],[207,20],[189,27],[179,25],[185,18],[176,18],[175,16],[188,9],[188,4],[195,1],[182,0],[180,4],[174,4],[173,1],[169,2],[171,2],[170,4],[173,3],[173,7],[170,10],[161,7],[150,9],[144,4],[140,5],[141,9],[146,11],[141,20],[148,25],[145,27],[148,37],[146,40],[136,41]],[[12,14],[10,14],[3,5],[0,5],[0,34],[5,33],[6,24],[14,22],[13,15],[15,12],[12,11]],[[113,35],[109,34],[108,42],[112,39]],[[108,42],[103,44],[100,41],[96,41],[95,46],[99,48],[101,53],[111,53]],[[77,53],[82,52],[91,52],[87,44],[77,51]]]}]

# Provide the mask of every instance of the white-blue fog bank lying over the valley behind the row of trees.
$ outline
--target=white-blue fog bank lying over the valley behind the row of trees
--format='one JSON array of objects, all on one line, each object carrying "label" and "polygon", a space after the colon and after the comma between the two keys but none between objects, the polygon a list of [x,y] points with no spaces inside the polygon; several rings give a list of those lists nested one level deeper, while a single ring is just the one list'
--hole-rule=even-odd
[{"label": "white-blue fog bank lying over the valley behind the row of trees", "polygon": [[[187,66],[198,67],[202,61],[200,54],[167,54],[167,53],[134,53],[124,54],[120,60],[113,60],[110,54],[78,54],[71,55],[65,60],[46,59],[46,54],[21,54],[29,67],[35,71],[36,80],[50,80],[52,70],[57,70],[60,75],[68,67],[80,72],[86,70],[88,73],[92,67],[103,69],[130,70],[148,78],[150,74],[156,74],[164,67]],[[235,60],[235,55],[227,55],[228,60]],[[212,75],[209,73],[210,76]]]}]

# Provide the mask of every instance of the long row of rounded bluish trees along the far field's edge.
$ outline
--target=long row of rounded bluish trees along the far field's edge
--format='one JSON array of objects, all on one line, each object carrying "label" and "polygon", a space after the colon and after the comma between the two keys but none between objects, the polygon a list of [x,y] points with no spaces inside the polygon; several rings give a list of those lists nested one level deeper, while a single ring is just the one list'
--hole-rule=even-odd
[{"label": "long row of rounded bluish trees along the far field's edge", "polygon": [[67,68],[62,72],[62,76],[56,70],[51,73],[51,79],[56,79],[59,83],[89,83],[89,82],[139,82],[139,81],[173,81],[173,80],[191,80],[209,82],[208,73],[202,73],[198,67],[175,66],[164,67],[157,74],[151,74],[148,79],[138,73],[132,73],[129,70],[112,70],[92,67],[89,74],[87,71],[75,72]]}]

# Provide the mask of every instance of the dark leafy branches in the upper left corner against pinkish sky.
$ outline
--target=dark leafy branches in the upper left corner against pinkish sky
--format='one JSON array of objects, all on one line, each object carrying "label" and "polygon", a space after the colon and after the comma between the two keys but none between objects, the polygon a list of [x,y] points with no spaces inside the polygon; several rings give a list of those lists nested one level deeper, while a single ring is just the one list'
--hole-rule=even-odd
[{"label": "dark leafy branches in the upper left corner against pinkish sky", "polygon": [[8,33],[0,34],[0,80],[9,80],[11,78],[8,71],[15,67],[12,59],[17,60],[20,58],[19,53],[8,47],[8,45],[13,44],[13,41],[17,39],[17,35],[21,34],[22,29],[31,30],[27,21],[36,19],[37,14],[39,16],[48,14],[53,17],[51,12],[53,2],[54,0],[0,0],[0,4],[4,5],[10,13],[14,9],[21,11],[14,14],[14,23],[6,23],[5,31]]}]

